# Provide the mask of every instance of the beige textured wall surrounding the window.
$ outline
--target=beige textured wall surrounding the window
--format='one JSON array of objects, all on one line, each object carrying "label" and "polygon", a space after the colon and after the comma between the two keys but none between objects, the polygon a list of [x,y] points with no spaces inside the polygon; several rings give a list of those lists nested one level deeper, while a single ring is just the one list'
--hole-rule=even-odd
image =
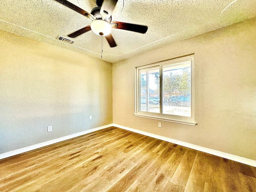
[{"label": "beige textured wall surrounding the window", "polygon": [[[256,160],[256,18],[113,64],[113,122]],[[196,126],[134,117],[134,69],[194,53]]]}]

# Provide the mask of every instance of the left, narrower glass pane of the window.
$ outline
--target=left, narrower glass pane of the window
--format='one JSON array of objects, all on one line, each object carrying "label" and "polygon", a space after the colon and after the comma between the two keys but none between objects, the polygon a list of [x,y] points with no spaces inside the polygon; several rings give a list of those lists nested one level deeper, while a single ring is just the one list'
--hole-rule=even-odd
[{"label": "left, narrower glass pane of the window", "polygon": [[140,70],[140,111],[160,113],[159,67]]}]

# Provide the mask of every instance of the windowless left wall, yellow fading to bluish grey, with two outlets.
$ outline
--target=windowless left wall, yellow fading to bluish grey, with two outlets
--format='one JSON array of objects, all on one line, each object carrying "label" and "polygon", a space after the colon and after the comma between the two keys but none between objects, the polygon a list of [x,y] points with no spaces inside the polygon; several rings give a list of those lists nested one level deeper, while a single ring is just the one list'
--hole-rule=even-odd
[{"label": "windowless left wall, yellow fading to bluish grey, with two outlets", "polygon": [[1,30],[0,42],[0,154],[112,123],[112,64]]}]

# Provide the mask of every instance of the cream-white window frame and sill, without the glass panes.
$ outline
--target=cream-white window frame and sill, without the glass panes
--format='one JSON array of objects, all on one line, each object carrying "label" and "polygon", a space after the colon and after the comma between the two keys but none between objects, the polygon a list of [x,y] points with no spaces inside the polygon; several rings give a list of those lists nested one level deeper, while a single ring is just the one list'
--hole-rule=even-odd
[{"label": "cream-white window frame and sill, without the glass panes", "polygon": [[[162,114],[162,69],[163,66],[166,65],[175,65],[179,62],[184,61],[191,61],[191,116],[177,116],[177,115],[170,115],[170,114]],[[153,112],[145,112],[140,111],[140,74],[139,70],[156,67],[159,66],[160,70],[160,113],[153,113]],[[175,58],[163,62],[158,62],[154,64],[149,64],[146,66],[140,66],[135,68],[135,113],[134,116],[136,117],[143,117],[143,118],[150,118],[155,120],[162,120],[167,122],[174,122],[174,123],[180,123],[180,124],[186,124],[186,125],[192,125],[195,126],[196,122],[194,121],[194,54],[189,56],[184,56],[180,58]]]}]

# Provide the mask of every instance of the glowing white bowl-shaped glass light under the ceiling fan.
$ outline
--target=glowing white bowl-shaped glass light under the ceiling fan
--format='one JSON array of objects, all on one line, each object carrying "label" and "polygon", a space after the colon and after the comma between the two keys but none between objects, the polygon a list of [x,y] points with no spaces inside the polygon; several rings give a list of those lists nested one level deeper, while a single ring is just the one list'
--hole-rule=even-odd
[{"label": "glowing white bowl-shaped glass light under the ceiling fan", "polygon": [[111,32],[111,25],[104,20],[94,20],[91,23],[92,31],[98,36],[108,36]]}]

